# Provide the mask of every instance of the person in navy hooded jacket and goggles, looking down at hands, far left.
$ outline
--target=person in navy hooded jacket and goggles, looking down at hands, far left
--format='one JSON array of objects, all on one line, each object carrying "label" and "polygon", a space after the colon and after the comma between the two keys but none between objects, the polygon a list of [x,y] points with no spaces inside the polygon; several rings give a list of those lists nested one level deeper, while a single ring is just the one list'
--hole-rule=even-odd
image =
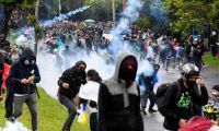
[{"label": "person in navy hooded jacket and goggles, looking down at hands, far left", "polygon": [[22,115],[22,107],[25,103],[31,111],[33,131],[37,130],[35,83],[38,83],[39,81],[41,75],[36,64],[36,57],[31,48],[26,48],[21,58],[12,64],[7,83],[10,91],[12,91],[10,94],[13,94],[13,117],[18,118]]}]

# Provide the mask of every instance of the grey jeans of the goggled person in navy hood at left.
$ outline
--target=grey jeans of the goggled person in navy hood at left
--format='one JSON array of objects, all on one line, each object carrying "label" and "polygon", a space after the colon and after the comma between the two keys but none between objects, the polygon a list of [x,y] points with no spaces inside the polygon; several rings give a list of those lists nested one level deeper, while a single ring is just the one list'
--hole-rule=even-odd
[{"label": "grey jeans of the goggled person in navy hood at left", "polygon": [[25,96],[14,96],[14,118],[18,118],[22,115],[23,104],[25,103],[31,111],[32,117],[32,130],[37,130],[37,105],[35,94],[28,94]]}]

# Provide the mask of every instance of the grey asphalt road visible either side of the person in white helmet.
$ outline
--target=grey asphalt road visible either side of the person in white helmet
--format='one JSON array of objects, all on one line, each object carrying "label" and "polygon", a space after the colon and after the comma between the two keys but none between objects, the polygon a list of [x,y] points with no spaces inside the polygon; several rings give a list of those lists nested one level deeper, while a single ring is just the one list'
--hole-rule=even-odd
[{"label": "grey asphalt road visible either side of the person in white helmet", "polygon": [[[206,87],[208,91],[216,85],[219,84],[219,68],[209,68],[205,67],[201,70],[200,73],[206,82]],[[166,83],[166,82],[174,82],[177,79],[181,78],[181,72],[178,69],[170,69],[169,71],[165,71],[164,69],[160,69],[158,73],[159,78],[159,83],[157,84],[154,91],[157,91],[158,85],[161,83]],[[157,107],[154,107],[157,108]],[[145,131],[163,131],[163,117],[159,114],[149,114],[143,116],[143,121],[145,121]]]}]

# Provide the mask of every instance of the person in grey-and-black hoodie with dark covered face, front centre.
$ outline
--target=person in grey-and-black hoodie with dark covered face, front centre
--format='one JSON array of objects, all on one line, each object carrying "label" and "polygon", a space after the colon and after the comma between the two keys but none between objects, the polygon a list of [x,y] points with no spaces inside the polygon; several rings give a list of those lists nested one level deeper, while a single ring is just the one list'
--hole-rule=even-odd
[{"label": "person in grey-and-black hoodie with dark covered face, front centre", "polygon": [[135,82],[138,63],[122,53],[114,75],[101,83],[99,91],[99,131],[143,131],[140,91]]}]

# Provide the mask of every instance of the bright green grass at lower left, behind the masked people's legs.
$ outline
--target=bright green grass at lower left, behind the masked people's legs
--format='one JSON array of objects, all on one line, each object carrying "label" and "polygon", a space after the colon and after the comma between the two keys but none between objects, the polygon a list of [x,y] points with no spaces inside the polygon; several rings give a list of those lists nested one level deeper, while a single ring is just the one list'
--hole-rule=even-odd
[{"label": "bright green grass at lower left, behind the masked people's legs", "polygon": [[[65,122],[68,111],[58,103],[48,96],[43,88],[38,88],[41,98],[37,99],[38,110],[38,131],[60,131]],[[31,128],[31,114],[24,104],[22,116],[18,119],[28,129]],[[4,118],[3,102],[0,103],[0,127],[4,127],[7,119]],[[89,131],[88,126],[81,126],[77,122],[77,118],[71,127],[72,131]]]}]

